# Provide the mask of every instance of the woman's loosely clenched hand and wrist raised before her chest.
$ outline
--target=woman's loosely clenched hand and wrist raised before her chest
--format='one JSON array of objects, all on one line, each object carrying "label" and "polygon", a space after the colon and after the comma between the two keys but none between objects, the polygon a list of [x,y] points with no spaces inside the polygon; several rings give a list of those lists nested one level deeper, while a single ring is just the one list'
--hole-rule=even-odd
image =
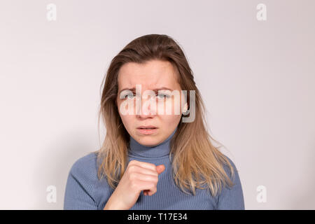
[{"label": "woman's loosely clenched hand and wrist raised before her chest", "polygon": [[144,195],[154,195],[157,191],[158,175],[164,170],[165,165],[155,166],[149,162],[131,160],[104,210],[130,209],[137,202],[141,190],[144,190]]}]

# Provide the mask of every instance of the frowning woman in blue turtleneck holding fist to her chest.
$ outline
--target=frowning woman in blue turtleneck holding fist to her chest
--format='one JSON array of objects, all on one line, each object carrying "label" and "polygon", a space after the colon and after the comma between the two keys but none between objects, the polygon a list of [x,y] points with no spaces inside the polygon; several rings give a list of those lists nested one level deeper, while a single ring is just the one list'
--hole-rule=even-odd
[{"label": "frowning woman in blue turtleneck holding fist to her chest", "polygon": [[193,71],[174,39],[134,39],[104,80],[106,137],[71,167],[64,209],[244,209],[237,169],[211,143]]}]

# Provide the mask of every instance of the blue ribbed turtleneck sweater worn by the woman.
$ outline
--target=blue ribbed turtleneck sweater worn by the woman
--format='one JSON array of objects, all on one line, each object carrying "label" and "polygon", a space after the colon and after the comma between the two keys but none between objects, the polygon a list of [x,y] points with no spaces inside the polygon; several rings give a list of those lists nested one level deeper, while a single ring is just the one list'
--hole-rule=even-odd
[{"label": "blue ribbed turtleneck sweater worn by the woman", "polygon": [[[225,187],[220,195],[212,197],[209,190],[199,188],[196,188],[196,195],[188,195],[176,186],[172,179],[172,164],[169,161],[169,143],[176,130],[177,128],[161,144],[153,147],[141,145],[130,137],[129,162],[138,160],[154,165],[165,165],[165,171],[159,174],[158,191],[151,196],[144,195],[141,191],[139,199],[130,210],[245,209],[239,174],[235,164],[228,157],[235,168],[235,178],[232,179],[235,185],[232,188]],[[89,153],[74,162],[66,181],[64,209],[104,209],[113,189],[106,179],[97,178],[97,169],[96,153]],[[225,167],[225,171],[230,175],[228,167]]]}]

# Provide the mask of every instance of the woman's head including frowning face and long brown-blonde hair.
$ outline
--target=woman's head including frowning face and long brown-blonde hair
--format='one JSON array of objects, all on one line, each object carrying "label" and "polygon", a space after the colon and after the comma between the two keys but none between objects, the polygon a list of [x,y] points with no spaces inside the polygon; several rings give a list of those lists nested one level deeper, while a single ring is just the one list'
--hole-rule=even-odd
[{"label": "woman's head including frowning face and long brown-blonde hair", "polygon": [[[232,184],[222,163],[227,164],[233,174],[232,166],[211,144],[212,138],[204,119],[204,104],[195,85],[193,71],[183,50],[173,38],[150,34],[134,39],[113,57],[104,80],[99,115],[106,127],[106,137],[97,152],[102,162],[99,175],[106,174],[110,186],[114,188],[114,183],[117,184],[125,172],[130,136],[140,144],[154,146],[167,139],[176,127],[170,154],[174,155],[174,178],[181,189],[190,188],[195,193],[195,187],[208,183],[211,193],[215,195],[221,182]],[[140,95],[136,90],[131,90],[137,88],[136,85],[141,86],[138,92]],[[178,91],[179,98],[173,95],[165,98],[165,94],[172,92],[167,92],[165,88]],[[158,89],[161,90],[156,92],[156,98],[143,95],[146,90]],[[183,97],[181,90],[187,91],[187,97]],[[191,91],[194,97],[190,96]],[[194,98],[193,104],[190,103],[190,97]],[[137,99],[141,99],[141,104],[137,104]],[[146,104],[151,99],[153,104]],[[134,104],[128,104],[132,102]],[[172,113],[165,113],[167,104],[159,102],[172,102]],[[180,111],[176,113],[178,106]],[[181,118],[189,116],[183,114],[184,108],[188,111],[193,109],[195,114],[192,122],[182,122]],[[144,134],[137,129],[148,125],[158,129],[153,134]]]}]

